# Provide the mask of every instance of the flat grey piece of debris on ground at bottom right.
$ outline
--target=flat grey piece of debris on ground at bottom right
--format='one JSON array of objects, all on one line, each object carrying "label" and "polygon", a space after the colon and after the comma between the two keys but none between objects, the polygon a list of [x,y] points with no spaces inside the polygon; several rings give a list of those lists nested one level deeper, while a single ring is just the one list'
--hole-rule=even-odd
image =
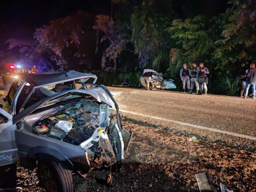
[{"label": "flat grey piece of debris on ground at bottom right", "polygon": [[196,181],[198,182],[200,192],[217,192],[213,178],[209,173],[196,174]]}]

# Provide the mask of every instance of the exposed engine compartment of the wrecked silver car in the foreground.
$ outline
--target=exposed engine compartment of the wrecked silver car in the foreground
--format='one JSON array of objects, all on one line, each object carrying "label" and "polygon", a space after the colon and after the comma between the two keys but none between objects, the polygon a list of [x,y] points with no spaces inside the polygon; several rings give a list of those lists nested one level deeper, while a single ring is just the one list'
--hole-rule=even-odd
[{"label": "exposed engine compartment of the wrecked silver car in the foreground", "polygon": [[43,117],[32,130],[36,134],[80,145],[99,128],[100,110],[100,103],[88,98],[65,102],[60,111]]}]

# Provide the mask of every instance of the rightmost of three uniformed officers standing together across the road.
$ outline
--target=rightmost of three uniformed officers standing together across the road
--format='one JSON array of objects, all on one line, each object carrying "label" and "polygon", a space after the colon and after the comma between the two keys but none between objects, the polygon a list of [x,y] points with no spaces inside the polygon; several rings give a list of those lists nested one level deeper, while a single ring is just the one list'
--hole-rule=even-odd
[{"label": "rightmost of three uniformed officers standing together across the road", "polygon": [[205,94],[207,94],[207,83],[208,83],[208,77],[209,69],[205,67],[205,63],[200,63],[199,65],[199,71],[196,75],[196,79],[198,79],[199,83],[199,95],[203,94],[203,89],[205,90]]}]

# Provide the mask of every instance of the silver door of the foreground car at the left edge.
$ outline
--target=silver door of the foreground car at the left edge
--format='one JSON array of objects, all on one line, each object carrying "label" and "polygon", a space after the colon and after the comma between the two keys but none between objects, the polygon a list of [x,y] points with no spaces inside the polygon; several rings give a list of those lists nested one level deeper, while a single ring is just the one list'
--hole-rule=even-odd
[{"label": "silver door of the foreground car at the left edge", "polygon": [[14,133],[16,129],[13,115],[0,108],[0,166],[19,161]]}]

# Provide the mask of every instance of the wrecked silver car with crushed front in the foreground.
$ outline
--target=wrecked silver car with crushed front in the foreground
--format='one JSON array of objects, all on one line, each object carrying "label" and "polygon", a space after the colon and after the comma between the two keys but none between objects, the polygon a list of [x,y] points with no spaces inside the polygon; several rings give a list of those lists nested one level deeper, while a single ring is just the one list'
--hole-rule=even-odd
[{"label": "wrecked silver car with crushed front in the foreground", "polygon": [[122,128],[117,103],[96,80],[75,71],[16,80],[0,109],[6,119],[0,142],[8,143],[3,151],[12,157],[1,166],[37,167],[47,191],[72,191],[72,172],[86,177],[93,169],[120,170],[132,132]]}]

